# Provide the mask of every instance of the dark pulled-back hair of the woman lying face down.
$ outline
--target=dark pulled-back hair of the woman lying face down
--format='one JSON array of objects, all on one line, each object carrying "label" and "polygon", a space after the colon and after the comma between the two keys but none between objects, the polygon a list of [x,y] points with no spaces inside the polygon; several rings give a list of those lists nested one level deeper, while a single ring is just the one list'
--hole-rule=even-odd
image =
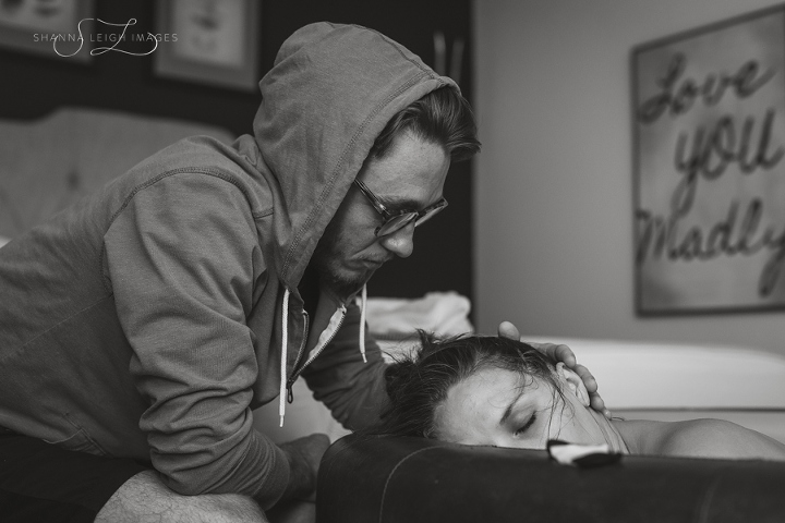
[{"label": "dark pulled-back hair of the woman lying face down", "polygon": [[528,377],[521,381],[523,387],[540,378],[553,386],[556,394],[561,394],[554,362],[527,343],[468,335],[439,340],[424,331],[420,331],[420,341],[412,354],[397,357],[387,367],[389,403],[371,434],[438,439],[436,409],[454,385],[485,368],[502,368]]}]

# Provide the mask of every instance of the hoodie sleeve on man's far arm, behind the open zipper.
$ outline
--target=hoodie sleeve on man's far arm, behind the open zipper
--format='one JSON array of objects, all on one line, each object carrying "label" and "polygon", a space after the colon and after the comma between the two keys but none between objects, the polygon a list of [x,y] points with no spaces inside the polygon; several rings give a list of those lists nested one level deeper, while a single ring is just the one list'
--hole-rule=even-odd
[{"label": "hoodie sleeve on man's far arm, behind the open zipper", "polygon": [[314,398],[351,430],[376,423],[387,399],[382,351],[366,332],[363,363],[360,328],[366,327],[360,325],[360,308],[352,302],[335,339],[302,373]]}]

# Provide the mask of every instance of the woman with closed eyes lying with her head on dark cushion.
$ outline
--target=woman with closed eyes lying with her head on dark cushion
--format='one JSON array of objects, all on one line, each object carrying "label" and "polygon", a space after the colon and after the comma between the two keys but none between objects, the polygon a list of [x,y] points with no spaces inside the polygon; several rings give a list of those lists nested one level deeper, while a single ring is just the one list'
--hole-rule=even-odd
[{"label": "woman with closed eyes lying with her head on dark cushion", "polygon": [[544,449],[550,439],[671,457],[785,460],[785,445],[721,419],[608,421],[582,380],[519,341],[437,340],[386,372],[390,403],[374,431],[464,445]]}]

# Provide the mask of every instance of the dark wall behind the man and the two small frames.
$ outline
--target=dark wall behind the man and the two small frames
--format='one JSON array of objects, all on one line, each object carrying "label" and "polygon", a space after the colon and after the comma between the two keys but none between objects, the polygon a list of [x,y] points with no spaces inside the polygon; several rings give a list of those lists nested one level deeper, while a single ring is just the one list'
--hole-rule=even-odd
[{"label": "dark wall behind the man and the two small frames", "polygon": [[[95,1],[94,4],[94,15],[108,23],[136,19],[136,25],[129,33],[157,32],[154,0]],[[462,56],[466,80],[459,83],[466,96],[471,97],[469,0],[431,0],[425,4],[419,0],[262,0],[261,4],[258,77],[273,66],[283,40],[312,22],[372,27],[407,46],[430,64],[434,63],[434,32],[439,31],[448,50],[455,47],[457,38],[466,42]],[[140,52],[147,50],[147,46],[138,49]],[[69,105],[193,120],[220,125],[235,135],[252,132],[259,102],[257,93],[161,78],[153,72],[153,54],[108,52],[95,57],[89,65],[81,65],[53,56],[0,48],[0,118],[34,119]],[[409,259],[390,262],[375,275],[369,283],[371,295],[418,297],[430,291],[456,290],[471,296],[471,163],[452,167],[445,187],[450,212],[433,220],[422,232],[418,231],[418,248]]]}]

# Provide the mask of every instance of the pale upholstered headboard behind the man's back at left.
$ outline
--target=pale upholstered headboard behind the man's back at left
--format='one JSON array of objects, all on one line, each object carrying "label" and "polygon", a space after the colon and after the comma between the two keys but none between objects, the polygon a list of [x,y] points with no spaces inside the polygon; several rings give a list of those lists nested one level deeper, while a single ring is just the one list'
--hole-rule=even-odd
[{"label": "pale upholstered headboard behind the man's back at left", "polygon": [[99,109],[0,120],[0,238],[21,234],[153,153],[200,134],[233,141],[212,125]]}]

